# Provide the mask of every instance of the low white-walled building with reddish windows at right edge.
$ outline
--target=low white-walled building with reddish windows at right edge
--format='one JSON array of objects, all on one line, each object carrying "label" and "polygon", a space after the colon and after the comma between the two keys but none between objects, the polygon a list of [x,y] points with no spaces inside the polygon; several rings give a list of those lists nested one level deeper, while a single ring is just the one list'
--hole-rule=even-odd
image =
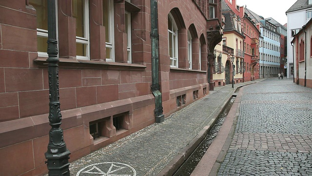
[{"label": "low white-walled building with reddish windows at right edge", "polygon": [[292,36],[296,84],[312,88],[312,20]]}]

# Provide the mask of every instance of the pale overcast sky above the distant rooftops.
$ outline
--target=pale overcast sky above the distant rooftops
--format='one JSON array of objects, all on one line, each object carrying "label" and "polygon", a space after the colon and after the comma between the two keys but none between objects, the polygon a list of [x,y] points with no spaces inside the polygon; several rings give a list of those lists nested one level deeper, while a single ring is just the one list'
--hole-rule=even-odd
[{"label": "pale overcast sky above the distant rooftops", "polygon": [[254,13],[264,17],[272,17],[277,22],[284,25],[287,23],[285,12],[297,0],[236,0],[239,6],[247,5],[247,8]]}]

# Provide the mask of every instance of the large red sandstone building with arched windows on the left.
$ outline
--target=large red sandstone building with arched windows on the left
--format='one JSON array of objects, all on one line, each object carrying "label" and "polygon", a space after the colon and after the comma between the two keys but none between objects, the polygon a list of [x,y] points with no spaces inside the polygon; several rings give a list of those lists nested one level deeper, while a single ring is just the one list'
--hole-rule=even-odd
[{"label": "large red sandstone building with arched windows on the left", "polygon": [[[213,89],[220,0],[158,0],[156,85],[149,0],[58,0],[56,8],[61,128],[71,161],[155,123],[155,111],[168,117]],[[46,0],[0,1],[2,175],[47,172],[47,36]]]}]

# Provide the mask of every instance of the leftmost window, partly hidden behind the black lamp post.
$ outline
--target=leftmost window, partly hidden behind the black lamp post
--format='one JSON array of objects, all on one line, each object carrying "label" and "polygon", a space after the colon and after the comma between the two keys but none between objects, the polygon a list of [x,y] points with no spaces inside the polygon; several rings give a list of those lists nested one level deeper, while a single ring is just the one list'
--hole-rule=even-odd
[{"label": "leftmost window, partly hidden behind the black lamp post", "polygon": [[[32,5],[37,12],[37,49],[39,57],[48,57],[48,2],[47,0],[28,0],[28,4]],[[57,10],[56,1],[56,10]],[[58,10],[57,10],[58,11]],[[58,17],[56,17],[58,20]],[[58,38],[58,22],[57,23],[57,38]]]}]

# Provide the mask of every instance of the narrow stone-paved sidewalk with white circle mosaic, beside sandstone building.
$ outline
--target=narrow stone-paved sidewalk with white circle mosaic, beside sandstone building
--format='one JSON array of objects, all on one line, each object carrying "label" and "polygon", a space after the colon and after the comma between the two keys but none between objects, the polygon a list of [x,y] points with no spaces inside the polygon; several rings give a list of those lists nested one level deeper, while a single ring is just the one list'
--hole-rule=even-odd
[{"label": "narrow stone-paved sidewalk with white circle mosaic, beside sandstone building", "polygon": [[[258,80],[261,81],[261,80]],[[244,86],[254,82],[235,84]],[[155,176],[215,118],[232,97],[232,85],[70,164],[71,176]]]}]

